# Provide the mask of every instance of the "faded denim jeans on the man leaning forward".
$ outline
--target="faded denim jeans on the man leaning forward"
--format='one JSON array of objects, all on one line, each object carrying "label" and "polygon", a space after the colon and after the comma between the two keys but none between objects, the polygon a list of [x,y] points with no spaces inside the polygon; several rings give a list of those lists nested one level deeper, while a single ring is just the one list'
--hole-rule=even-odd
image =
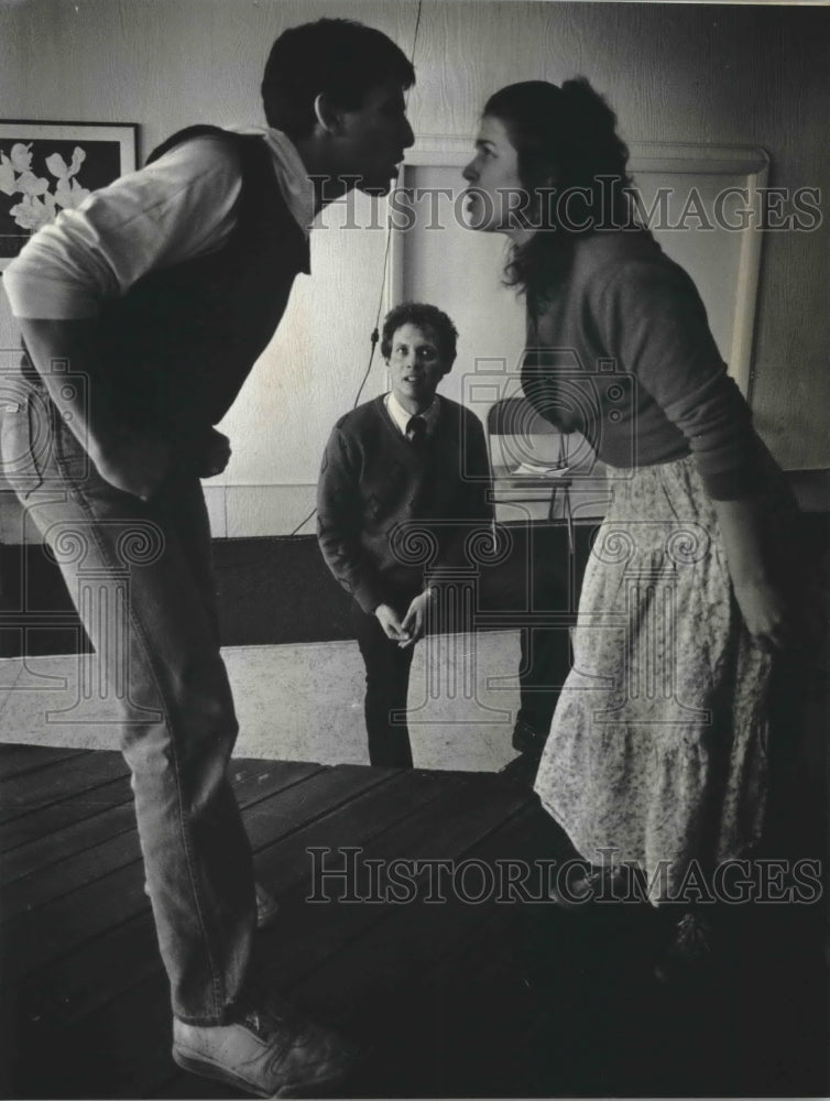
[{"label": "faded denim jeans on the man leaning forward", "polygon": [[173,1012],[221,1024],[255,928],[251,849],[227,778],[237,737],[195,472],[149,503],[97,473],[39,381],[3,380],[2,470],[63,571],[118,707]]}]

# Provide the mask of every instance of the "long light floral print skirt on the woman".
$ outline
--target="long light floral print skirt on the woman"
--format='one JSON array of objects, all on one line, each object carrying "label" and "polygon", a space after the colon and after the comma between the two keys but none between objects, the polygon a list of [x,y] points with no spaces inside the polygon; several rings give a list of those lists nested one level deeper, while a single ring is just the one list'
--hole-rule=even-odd
[{"label": "long light floral print skirt on the woman", "polygon": [[581,857],[637,865],[656,905],[758,840],[772,659],[741,619],[694,460],[625,475],[535,788]]}]

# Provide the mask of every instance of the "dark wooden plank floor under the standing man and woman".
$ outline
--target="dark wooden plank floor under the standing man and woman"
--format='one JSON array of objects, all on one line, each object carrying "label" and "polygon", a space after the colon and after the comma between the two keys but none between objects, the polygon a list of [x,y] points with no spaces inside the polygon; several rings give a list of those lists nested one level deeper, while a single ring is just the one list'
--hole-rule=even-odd
[{"label": "dark wooden plank floor under the standing man and woman", "polygon": [[[651,978],[644,907],[575,918],[485,891],[465,902],[436,881],[436,862],[463,861],[474,894],[487,869],[570,854],[521,768],[234,760],[232,780],[258,875],[281,902],[259,938],[260,973],[371,1047],[343,1095],[828,1092],[816,907],[756,922],[717,989],[666,993]],[[319,847],[358,848],[362,868],[429,861],[445,901],[429,901],[422,874],[408,903],[371,897],[365,876],[360,902],[309,902]],[[119,754],[0,746],[0,884],[3,1097],[230,1095],[170,1057]]]}]

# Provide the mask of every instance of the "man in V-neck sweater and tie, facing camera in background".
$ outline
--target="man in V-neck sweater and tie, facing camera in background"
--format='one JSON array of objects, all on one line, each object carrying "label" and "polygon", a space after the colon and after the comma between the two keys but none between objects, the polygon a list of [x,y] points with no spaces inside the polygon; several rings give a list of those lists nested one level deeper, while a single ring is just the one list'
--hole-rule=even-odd
[{"label": "man in V-neck sweater and tie, facing camera in background", "polygon": [[[436,394],[456,338],[436,306],[405,303],[386,316],[381,350],[392,390],[337,422],[317,486],[320,548],[354,598],[373,765],[412,767],[403,712],[413,647],[441,575],[470,565],[467,537],[493,520],[481,424]],[[418,546],[429,549],[416,563]]]}]

